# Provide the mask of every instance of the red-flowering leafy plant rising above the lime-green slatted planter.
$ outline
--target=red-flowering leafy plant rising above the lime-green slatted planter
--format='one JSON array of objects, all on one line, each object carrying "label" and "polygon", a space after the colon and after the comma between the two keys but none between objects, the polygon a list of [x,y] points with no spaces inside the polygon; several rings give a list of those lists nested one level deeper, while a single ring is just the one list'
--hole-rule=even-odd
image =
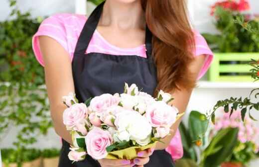
[{"label": "red-flowering leafy plant rising above the lime-green slatted planter", "polygon": [[243,17],[245,24],[259,29],[258,15],[249,14],[248,0],[224,0],[211,6],[218,34],[203,33],[214,52],[259,52],[259,34],[247,31],[234,20]]}]

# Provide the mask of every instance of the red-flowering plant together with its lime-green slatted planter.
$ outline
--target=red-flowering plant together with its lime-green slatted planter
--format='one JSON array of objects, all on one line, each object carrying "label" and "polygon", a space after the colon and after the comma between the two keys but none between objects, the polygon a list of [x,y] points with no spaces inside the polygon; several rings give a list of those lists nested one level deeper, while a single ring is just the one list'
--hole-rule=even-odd
[{"label": "red-flowering plant together with its lime-green slatted planter", "polygon": [[211,6],[217,34],[203,33],[215,53],[209,70],[210,81],[253,81],[247,62],[259,57],[259,34],[246,31],[235,19],[244,18],[245,24],[259,27],[258,18],[247,14],[248,0],[223,0]]}]

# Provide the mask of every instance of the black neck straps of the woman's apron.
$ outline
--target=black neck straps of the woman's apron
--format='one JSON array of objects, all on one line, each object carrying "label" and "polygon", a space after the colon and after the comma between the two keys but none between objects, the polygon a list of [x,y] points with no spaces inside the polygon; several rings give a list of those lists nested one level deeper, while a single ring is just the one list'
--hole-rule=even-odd
[{"label": "black neck straps of the woman's apron", "polygon": [[[79,54],[79,55],[85,54],[85,51],[92,39],[92,36],[101,18],[104,3],[105,1],[99,4],[91,13],[91,15],[88,17],[76,44],[76,49],[75,49],[76,54]],[[146,56],[148,59],[151,59],[152,33],[148,29],[147,25],[145,29],[145,47],[146,47]]]}]

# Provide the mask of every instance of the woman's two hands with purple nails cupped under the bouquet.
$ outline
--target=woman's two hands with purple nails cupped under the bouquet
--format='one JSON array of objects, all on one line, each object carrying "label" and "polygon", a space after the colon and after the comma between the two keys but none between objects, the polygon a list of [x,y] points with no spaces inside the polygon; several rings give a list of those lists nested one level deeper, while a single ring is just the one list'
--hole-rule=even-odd
[{"label": "woman's two hands with purple nails cupped under the bouquet", "polygon": [[143,167],[149,162],[149,156],[154,152],[154,148],[140,151],[137,153],[137,158],[133,160],[110,160],[102,159],[98,160],[101,167]]}]

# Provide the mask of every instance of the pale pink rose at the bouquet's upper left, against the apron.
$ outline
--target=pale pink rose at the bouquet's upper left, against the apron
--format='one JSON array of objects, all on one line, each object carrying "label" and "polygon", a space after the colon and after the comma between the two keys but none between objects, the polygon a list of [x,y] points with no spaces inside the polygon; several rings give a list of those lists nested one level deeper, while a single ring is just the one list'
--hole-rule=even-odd
[{"label": "pale pink rose at the bouquet's upper left, against the apron", "polygon": [[94,97],[90,102],[90,108],[94,112],[102,113],[113,105],[118,105],[120,98],[109,93]]}]

